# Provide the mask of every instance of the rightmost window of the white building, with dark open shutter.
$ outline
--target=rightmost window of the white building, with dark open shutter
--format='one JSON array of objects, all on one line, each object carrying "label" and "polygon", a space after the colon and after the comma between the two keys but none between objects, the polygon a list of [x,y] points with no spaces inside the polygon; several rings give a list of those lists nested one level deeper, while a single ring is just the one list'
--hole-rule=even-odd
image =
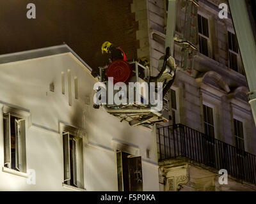
[{"label": "rightmost window of the white building, with dark open shutter", "polygon": [[142,191],[141,157],[116,152],[118,191]]}]

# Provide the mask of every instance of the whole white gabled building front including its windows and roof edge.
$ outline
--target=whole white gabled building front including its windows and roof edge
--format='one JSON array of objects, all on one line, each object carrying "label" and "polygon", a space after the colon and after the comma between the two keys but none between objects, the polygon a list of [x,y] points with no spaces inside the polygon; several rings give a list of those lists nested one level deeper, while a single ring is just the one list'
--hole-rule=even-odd
[{"label": "whole white gabled building front including its windows and roof edge", "polygon": [[67,45],[0,62],[1,191],[159,191],[154,129],[95,110],[97,81]]}]

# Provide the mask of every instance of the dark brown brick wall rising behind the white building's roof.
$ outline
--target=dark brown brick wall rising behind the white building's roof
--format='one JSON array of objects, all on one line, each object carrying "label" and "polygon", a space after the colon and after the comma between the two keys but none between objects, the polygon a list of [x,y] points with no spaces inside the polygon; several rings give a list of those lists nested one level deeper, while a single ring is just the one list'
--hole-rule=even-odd
[{"label": "dark brown brick wall rising behind the white building's roof", "polygon": [[[36,19],[28,19],[28,3]],[[67,43],[87,64],[103,41],[121,46],[128,59],[136,57],[136,24],[129,0],[6,0],[0,1],[0,54]],[[122,26],[120,21],[123,20]],[[129,40],[128,40],[129,39]]]}]

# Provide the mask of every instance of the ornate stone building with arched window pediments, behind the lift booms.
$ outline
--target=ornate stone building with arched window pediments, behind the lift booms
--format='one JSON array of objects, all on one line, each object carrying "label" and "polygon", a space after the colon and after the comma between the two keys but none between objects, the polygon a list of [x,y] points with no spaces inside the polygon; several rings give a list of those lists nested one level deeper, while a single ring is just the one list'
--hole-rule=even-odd
[{"label": "ornate stone building with arched window pediments, behind the lift booms", "polygon": [[[157,73],[157,60],[164,54],[166,1],[149,0],[145,3],[148,12],[149,48],[145,46],[144,55],[150,56],[154,75]],[[172,119],[170,125],[183,124],[190,128],[189,131],[196,131],[196,134],[202,133],[203,139],[205,136],[210,136],[214,138],[214,141],[211,139],[212,141],[209,142],[206,138],[204,139],[206,145],[200,145],[196,143],[198,137],[195,133],[185,131],[183,134],[188,136],[186,140],[190,141],[189,137],[191,137],[191,141],[195,144],[183,142],[184,145],[191,145],[192,150],[187,154],[186,152],[180,153],[178,150],[178,153],[185,154],[184,157],[179,157],[180,155],[173,155],[173,140],[180,140],[176,143],[177,152],[177,148],[182,148],[182,138],[179,138],[182,134],[178,133],[177,136],[173,134],[175,128],[178,131],[180,129],[184,131],[183,126],[159,129],[157,142],[160,161],[159,182],[162,191],[255,190],[255,173],[253,173],[255,156],[252,156],[253,162],[249,166],[243,166],[247,161],[246,156],[241,161],[237,159],[237,157],[240,158],[237,156],[240,150],[244,150],[246,155],[247,153],[256,154],[255,124],[246,97],[248,85],[230,13],[228,13],[228,19],[220,19],[218,16],[220,12],[218,6],[221,3],[227,4],[227,1],[198,1],[198,44],[196,45],[198,52],[194,58],[192,73],[181,68],[182,49],[179,43],[175,43],[174,55],[179,71],[169,98],[170,110],[172,110],[170,111],[170,119]],[[186,1],[177,1],[175,32],[177,38],[182,38],[184,31],[185,5]],[[139,25],[140,22],[143,21],[139,20]],[[159,145],[159,140],[161,145]],[[219,142],[221,145],[218,145]],[[225,145],[230,145],[228,148],[236,150],[234,152],[224,150],[224,153],[221,153],[221,148],[228,149]],[[201,148],[212,150],[212,152],[205,153],[208,157],[206,160],[212,159],[211,164],[205,165],[206,160],[200,162],[200,156],[196,159],[195,154],[203,154],[200,152]],[[195,149],[195,154],[193,149]],[[184,150],[186,151],[186,148]],[[249,182],[244,182],[244,177],[237,179],[230,176],[228,185],[220,185],[218,167],[221,164],[217,163],[224,162],[225,156],[228,155],[234,161],[225,160],[230,164],[227,170],[236,169],[240,172],[241,168],[245,168],[244,171],[247,172],[247,168],[253,167],[253,170],[248,170],[250,171],[248,175],[252,175],[254,180],[248,178]],[[243,167],[240,167],[241,165]]]}]

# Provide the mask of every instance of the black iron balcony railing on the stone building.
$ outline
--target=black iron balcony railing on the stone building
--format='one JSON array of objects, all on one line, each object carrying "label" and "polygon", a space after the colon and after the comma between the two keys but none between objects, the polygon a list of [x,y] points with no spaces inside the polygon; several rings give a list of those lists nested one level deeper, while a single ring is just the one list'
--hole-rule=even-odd
[{"label": "black iron balcony railing on the stone building", "polygon": [[182,124],[157,128],[159,161],[187,157],[256,184],[256,156]]}]

